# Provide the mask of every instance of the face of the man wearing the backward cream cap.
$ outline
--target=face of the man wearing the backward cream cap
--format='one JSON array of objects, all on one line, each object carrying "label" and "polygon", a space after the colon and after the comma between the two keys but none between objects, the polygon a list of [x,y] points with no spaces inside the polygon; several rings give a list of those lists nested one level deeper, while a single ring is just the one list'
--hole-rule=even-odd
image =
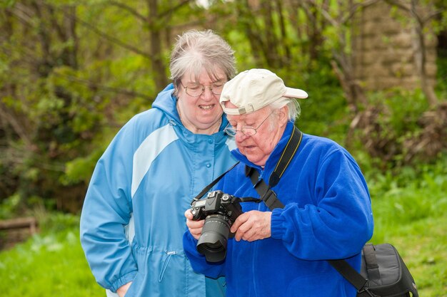
[{"label": "face of the man wearing the backward cream cap", "polygon": [[[225,103],[226,108],[237,108],[230,102]],[[236,145],[247,159],[258,166],[266,165],[271,152],[281,140],[288,121],[287,107],[274,110],[268,106],[246,115],[227,115],[228,122],[236,132]],[[265,122],[263,122],[265,120]],[[243,127],[256,128],[256,134],[244,135],[240,130]]]}]

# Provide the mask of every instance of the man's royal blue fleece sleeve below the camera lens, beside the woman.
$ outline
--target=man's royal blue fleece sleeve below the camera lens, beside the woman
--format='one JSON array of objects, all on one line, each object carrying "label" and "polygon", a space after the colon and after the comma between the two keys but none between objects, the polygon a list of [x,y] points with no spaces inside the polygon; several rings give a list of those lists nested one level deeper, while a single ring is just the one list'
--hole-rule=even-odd
[{"label": "man's royal blue fleece sleeve below the camera lens, beside the woman", "polygon": [[218,278],[224,276],[225,261],[221,263],[209,263],[206,261],[205,256],[200,254],[196,249],[197,240],[191,235],[188,229],[186,229],[183,236],[183,245],[186,256],[191,262],[191,267],[194,271],[202,273],[205,276],[211,278]]}]

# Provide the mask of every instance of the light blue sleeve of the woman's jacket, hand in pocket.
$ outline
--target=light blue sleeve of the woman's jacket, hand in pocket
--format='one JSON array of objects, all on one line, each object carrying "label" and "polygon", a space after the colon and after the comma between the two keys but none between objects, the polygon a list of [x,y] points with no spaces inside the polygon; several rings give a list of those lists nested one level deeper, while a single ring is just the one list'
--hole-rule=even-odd
[{"label": "light blue sleeve of the woman's jacket, hand in pocket", "polygon": [[133,128],[124,126],[97,163],[81,212],[81,245],[96,281],[115,292],[137,267],[125,227],[131,219]]}]

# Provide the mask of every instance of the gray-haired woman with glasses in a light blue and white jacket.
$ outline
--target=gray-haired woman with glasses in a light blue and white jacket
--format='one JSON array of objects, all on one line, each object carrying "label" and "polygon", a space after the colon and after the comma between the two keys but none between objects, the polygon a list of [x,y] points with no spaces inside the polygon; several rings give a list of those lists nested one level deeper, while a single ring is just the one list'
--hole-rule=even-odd
[{"label": "gray-haired woman with glasses in a light blue and white jacket", "polygon": [[184,209],[236,161],[219,97],[236,75],[233,50],[212,31],[188,31],[171,79],[97,163],[81,213],[81,244],[109,296],[224,296],[223,279],[194,272],[182,246]]}]

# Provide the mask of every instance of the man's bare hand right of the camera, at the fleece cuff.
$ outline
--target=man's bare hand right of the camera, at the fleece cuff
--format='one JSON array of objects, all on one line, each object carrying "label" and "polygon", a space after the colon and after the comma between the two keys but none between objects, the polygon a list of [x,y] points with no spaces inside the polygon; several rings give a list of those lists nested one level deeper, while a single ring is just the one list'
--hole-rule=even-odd
[{"label": "man's bare hand right of the camera, at the fleece cuff", "polygon": [[231,233],[236,231],[234,239],[240,241],[255,241],[258,239],[265,239],[271,236],[271,212],[258,212],[251,210],[241,214],[233,226],[231,226]]}]

